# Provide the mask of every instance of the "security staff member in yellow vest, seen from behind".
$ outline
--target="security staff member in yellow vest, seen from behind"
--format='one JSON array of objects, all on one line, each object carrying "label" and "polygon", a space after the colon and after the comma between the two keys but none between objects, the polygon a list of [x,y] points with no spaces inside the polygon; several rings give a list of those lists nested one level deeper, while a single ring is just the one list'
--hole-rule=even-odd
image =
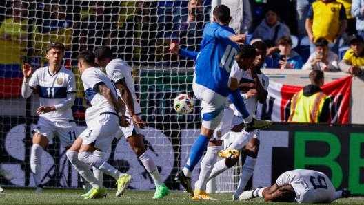
[{"label": "security staff member in yellow vest, seen from behind", "polygon": [[291,99],[291,112],[288,122],[328,122],[330,118],[330,98],[323,93],[324,77],[321,70],[309,75],[311,85],[294,94]]}]

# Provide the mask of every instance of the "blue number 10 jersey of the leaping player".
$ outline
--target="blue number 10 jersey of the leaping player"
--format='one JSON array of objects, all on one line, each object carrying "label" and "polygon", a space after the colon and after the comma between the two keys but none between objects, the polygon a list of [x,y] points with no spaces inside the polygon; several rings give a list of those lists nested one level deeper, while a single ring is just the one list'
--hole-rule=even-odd
[{"label": "blue number 10 jersey of the leaping player", "polygon": [[196,60],[196,83],[225,97],[230,94],[230,70],[239,50],[239,45],[229,39],[234,34],[234,30],[228,26],[206,24],[201,51]]}]

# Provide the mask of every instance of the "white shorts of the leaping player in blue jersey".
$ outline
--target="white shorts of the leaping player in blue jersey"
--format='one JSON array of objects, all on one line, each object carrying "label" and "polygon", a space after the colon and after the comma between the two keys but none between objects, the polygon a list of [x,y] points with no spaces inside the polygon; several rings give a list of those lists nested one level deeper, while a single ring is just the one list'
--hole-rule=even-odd
[{"label": "white shorts of the leaping player in blue jersey", "polygon": [[203,85],[197,84],[195,79],[192,87],[194,96],[202,101],[202,126],[210,130],[216,129],[220,124],[221,118],[223,118],[226,97],[221,96],[221,94],[218,94]]}]

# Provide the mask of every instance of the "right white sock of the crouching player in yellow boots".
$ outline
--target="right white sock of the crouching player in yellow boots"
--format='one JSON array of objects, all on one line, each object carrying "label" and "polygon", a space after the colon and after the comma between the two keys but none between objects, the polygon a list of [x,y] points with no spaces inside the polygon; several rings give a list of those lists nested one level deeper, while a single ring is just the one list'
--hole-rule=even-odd
[{"label": "right white sock of the crouching player in yellow boots", "polygon": [[[92,155],[92,153],[90,153],[88,151],[79,153],[79,160],[82,162],[85,162],[85,164],[89,164],[91,166],[96,167],[103,173],[114,177],[115,180],[119,180],[120,177],[124,176],[123,173],[121,173],[120,171],[118,171],[117,169],[112,167],[110,164],[108,164],[108,162],[105,162],[105,160],[103,160],[95,155]],[[96,179],[96,177],[95,177],[95,179]]]}]

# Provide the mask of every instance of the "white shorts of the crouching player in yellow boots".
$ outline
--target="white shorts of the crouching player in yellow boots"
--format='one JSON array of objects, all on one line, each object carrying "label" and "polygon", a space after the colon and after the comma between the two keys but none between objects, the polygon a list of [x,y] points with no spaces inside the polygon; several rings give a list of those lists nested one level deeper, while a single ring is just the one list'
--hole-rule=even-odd
[{"label": "white shorts of the crouching player in yellow boots", "polygon": [[119,118],[116,114],[101,114],[90,120],[88,127],[81,133],[82,144],[90,144],[101,151],[108,151],[118,129]]}]

